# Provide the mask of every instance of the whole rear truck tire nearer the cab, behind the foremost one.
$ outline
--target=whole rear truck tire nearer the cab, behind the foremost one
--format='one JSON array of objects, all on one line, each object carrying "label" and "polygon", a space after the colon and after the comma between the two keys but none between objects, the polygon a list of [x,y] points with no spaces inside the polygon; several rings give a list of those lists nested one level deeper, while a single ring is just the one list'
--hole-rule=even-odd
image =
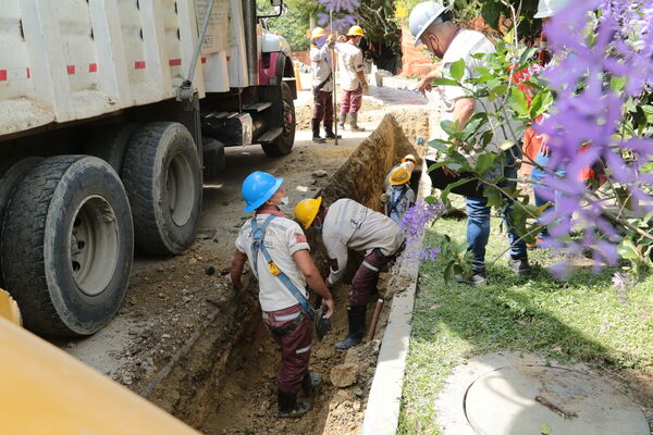
[{"label": "whole rear truck tire nearer the cab, behind the foremost one", "polygon": [[195,240],[201,207],[201,166],[182,124],[143,125],[130,141],[122,171],[139,251],[175,254]]}]

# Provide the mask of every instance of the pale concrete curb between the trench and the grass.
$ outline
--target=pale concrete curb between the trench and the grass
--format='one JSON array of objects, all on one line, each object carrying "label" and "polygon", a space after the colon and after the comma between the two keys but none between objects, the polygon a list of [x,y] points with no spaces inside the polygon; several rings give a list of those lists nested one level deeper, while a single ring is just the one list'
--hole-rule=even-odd
[{"label": "pale concrete curb between the trench and the grass", "polygon": [[[418,199],[431,192],[431,178],[426,165],[417,191]],[[419,245],[422,240],[419,240]],[[393,273],[387,288],[404,288],[392,300],[387,325],[381,341],[379,360],[362,422],[364,435],[395,434],[399,422],[406,357],[410,345],[412,307],[417,290],[419,263],[404,261]]]}]

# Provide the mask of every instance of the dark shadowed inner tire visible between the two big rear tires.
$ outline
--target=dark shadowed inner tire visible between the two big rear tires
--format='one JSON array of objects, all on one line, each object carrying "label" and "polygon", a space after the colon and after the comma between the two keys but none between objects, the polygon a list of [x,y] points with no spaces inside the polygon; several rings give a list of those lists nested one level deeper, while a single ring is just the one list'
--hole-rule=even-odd
[{"label": "dark shadowed inner tire visible between the two big rear tires", "polygon": [[138,128],[138,124],[128,123],[100,128],[94,132],[90,139],[84,146],[84,153],[99,157],[120,174],[127,145],[136,128]]}]

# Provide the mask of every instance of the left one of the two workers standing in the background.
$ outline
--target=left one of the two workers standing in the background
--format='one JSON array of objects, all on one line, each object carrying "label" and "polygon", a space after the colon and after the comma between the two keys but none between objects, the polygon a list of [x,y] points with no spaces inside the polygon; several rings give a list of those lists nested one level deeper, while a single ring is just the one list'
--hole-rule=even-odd
[{"label": "left one of the two workers standing in the background", "polygon": [[320,136],[320,123],[324,123],[326,139],[335,139],[333,133],[333,59],[331,50],[335,46],[335,35],[326,35],[322,27],[312,29],[310,47],[310,65],[313,71],[313,115],[311,125],[312,141],[323,144]]}]

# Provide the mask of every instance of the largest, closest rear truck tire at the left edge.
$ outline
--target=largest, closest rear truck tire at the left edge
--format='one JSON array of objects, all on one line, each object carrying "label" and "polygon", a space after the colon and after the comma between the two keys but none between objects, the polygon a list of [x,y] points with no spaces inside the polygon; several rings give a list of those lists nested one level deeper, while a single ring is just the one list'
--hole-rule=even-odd
[{"label": "largest, closest rear truck tire at the left edge", "polygon": [[134,229],[118,174],[90,156],[57,156],[16,187],[2,224],[2,278],[25,326],[83,336],[115,314],[130,281]]}]

